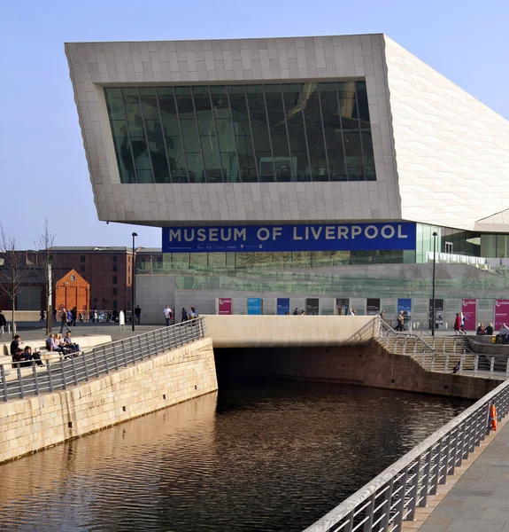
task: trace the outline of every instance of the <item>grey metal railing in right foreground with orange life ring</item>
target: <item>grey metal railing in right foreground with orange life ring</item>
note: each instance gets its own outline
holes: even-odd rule
[[[401,532],[404,520],[414,520],[439,484],[490,434],[490,405],[498,420],[509,410],[509,381],[452,419],[424,442],[390,465],[364,488],[348,497],[305,532]]]

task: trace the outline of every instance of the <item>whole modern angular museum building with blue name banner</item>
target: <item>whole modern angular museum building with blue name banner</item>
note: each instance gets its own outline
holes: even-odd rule
[[[66,55],[99,219],[161,228],[136,266],[146,319],[428,326],[436,258],[439,327],[509,322],[509,122],[386,35]]]

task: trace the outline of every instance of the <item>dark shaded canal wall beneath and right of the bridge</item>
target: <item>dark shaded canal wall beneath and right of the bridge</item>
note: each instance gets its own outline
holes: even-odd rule
[[[393,355],[373,341],[366,347],[225,349],[218,364],[290,379],[338,382],[432,395],[479,399],[500,384],[452,373],[427,372],[410,356]],[[225,359],[225,357],[228,357]]]

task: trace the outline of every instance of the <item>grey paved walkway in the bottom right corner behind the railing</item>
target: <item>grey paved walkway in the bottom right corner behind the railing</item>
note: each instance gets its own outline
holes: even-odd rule
[[[419,532],[509,532],[509,424],[456,469],[448,485],[430,497],[405,530]],[[451,487],[452,486],[452,487]]]

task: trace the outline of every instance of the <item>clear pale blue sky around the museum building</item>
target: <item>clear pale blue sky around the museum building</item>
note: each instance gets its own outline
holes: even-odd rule
[[[506,0],[6,1],[0,14],[0,222],[33,247],[160,246],[99,223],[64,43],[385,33],[509,118]],[[509,149],[509,146],[508,146]],[[501,191],[507,193],[507,191]]]

